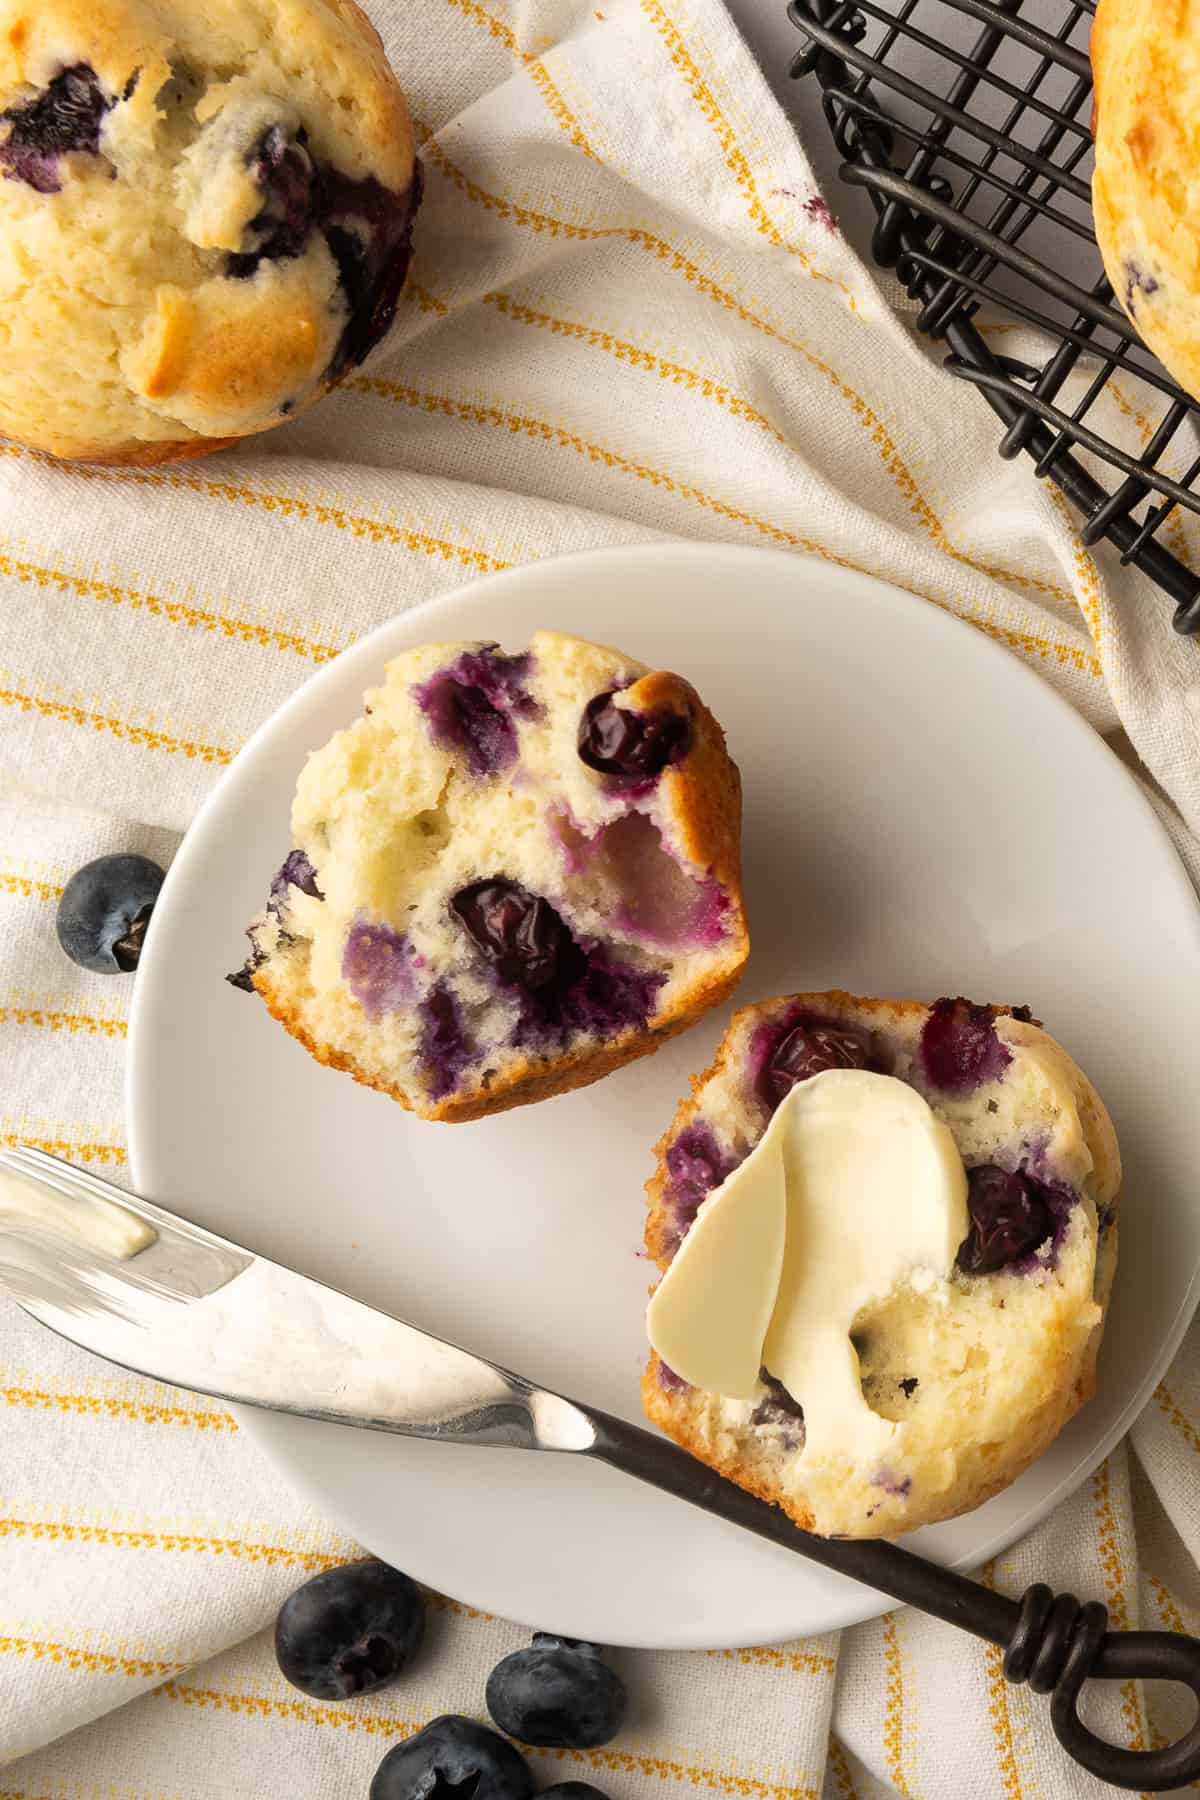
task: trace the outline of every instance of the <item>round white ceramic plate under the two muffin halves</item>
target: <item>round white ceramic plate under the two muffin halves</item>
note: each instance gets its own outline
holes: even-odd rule
[[[1097,1399],[1015,1487],[914,1548],[972,1566],[1128,1429],[1196,1301],[1200,913],[1133,779],[1015,657],[907,594],[766,551],[536,563],[392,621],[313,677],[193,826],[137,983],[139,1188],[540,1382],[639,1418],[642,1183],[727,1010],[583,1093],[430,1125],[311,1062],[221,979],[288,850],[306,751],[399,650],[538,626],[691,677],[745,781],[741,1001],[846,986],[1029,1003],[1126,1159]],[[473,1606],[608,1643],[779,1642],[878,1595],[572,1458],[266,1413],[243,1424],[378,1555]]]

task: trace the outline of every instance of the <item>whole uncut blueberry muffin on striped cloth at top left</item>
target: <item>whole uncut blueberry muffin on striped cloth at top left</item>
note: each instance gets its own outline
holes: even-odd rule
[[[0,434],[203,455],[387,333],[421,178],[353,0],[0,0]]]

